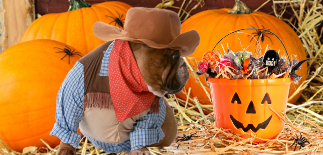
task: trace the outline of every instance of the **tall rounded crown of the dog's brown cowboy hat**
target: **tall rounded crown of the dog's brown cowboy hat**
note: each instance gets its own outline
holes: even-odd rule
[[[180,34],[180,18],[166,9],[134,7],[127,12],[124,28],[125,36],[167,45]]]

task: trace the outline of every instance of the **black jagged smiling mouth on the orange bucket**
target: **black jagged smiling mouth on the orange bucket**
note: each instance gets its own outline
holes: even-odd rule
[[[239,121],[234,119],[232,115],[230,115],[231,121],[237,129],[241,128],[244,132],[252,130],[254,133],[257,132],[259,129],[265,129],[267,127],[267,125],[269,124],[272,117],[273,117],[273,115],[271,115],[266,121],[258,124],[257,127],[255,128],[255,126],[253,126],[253,124],[248,124],[247,127],[243,127],[242,123],[240,123]]]

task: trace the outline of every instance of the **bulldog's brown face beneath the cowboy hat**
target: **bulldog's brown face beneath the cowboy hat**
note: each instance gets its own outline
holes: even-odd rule
[[[189,73],[178,50],[155,49],[133,42],[129,44],[151,92],[163,96],[166,93],[177,94],[183,89]]]

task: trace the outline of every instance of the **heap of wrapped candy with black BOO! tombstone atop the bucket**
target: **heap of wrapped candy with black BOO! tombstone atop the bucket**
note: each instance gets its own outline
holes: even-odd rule
[[[298,83],[302,77],[296,75],[295,71],[300,70],[301,65],[308,61],[308,59],[302,61],[292,60],[293,66],[291,66],[292,63],[287,62],[287,57],[279,56],[275,50],[268,50],[259,58],[254,58],[252,55],[248,51],[239,51],[238,53],[228,51],[220,59],[215,52],[205,52],[203,61],[198,63],[198,72],[196,74],[202,75],[206,73],[208,78],[226,79],[291,77],[294,83]]]

